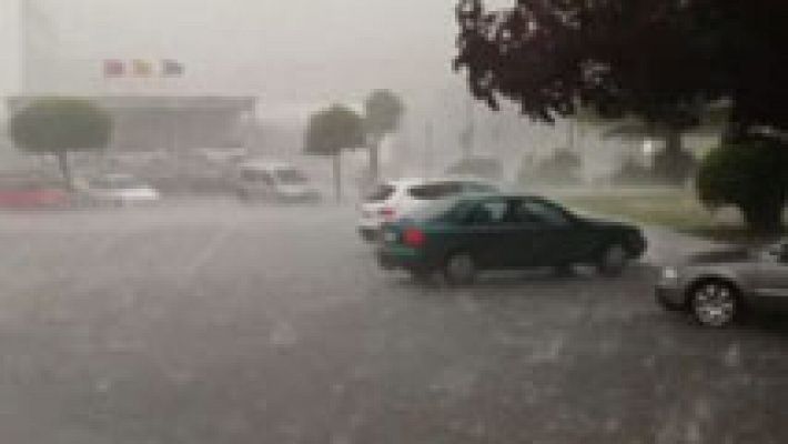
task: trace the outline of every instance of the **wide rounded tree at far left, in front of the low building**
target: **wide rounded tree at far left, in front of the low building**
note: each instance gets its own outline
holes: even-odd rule
[[[69,152],[103,150],[112,135],[111,117],[82,99],[37,100],[11,117],[9,127],[11,139],[20,149],[58,158],[69,188],[72,185]]]

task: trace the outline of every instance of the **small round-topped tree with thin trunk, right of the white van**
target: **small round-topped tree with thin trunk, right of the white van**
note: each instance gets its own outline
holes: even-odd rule
[[[364,135],[363,119],[341,104],[317,111],[310,118],[304,151],[306,154],[330,155],[334,159],[334,190],[337,202],[342,200],[342,150],[363,147]]]

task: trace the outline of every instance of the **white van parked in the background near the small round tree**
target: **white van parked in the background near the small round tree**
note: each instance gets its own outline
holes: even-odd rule
[[[242,163],[238,172],[236,193],[245,201],[319,202],[322,199],[303,171],[284,162]]]

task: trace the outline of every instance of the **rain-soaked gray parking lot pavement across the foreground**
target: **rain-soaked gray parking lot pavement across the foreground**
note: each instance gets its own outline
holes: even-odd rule
[[[648,262],[420,285],[378,270],[354,215],[0,214],[2,441],[788,438],[785,317],[697,327],[654,303]]]

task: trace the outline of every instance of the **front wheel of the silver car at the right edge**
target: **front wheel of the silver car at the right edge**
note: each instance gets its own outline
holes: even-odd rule
[[[738,315],[738,291],[728,282],[704,282],[693,289],[689,297],[693,316],[701,325],[724,327]]]

